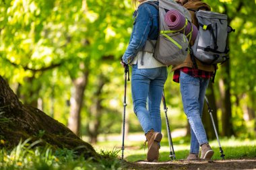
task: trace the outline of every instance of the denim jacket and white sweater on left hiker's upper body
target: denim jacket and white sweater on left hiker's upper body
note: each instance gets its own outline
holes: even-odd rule
[[[137,64],[139,69],[164,66],[152,57],[153,52],[143,51],[147,40],[157,40],[158,38],[158,10],[149,3],[143,2],[133,13],[133,17],[133,32],[129,46],[123,54],[123,61],[131,65]]]

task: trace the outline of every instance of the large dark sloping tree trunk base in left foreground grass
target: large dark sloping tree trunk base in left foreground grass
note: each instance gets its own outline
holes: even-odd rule
[[[98,157],[87,142],[77,137],[69,128],[54,120],[44,112],[23,105],[0,76],[0,139],[5,140],[1,147],[13,148],[20,139],[31,138],[31,142],[41,140],[40,145],[51,144],[54,148],[76,149],[84,157]],[[40,136],[39,132],[43,132]]]

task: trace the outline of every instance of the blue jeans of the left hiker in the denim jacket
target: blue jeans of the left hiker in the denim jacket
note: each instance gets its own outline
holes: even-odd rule
[[[133,65],[131,75],[133,110],[145,134],[151,129],[161,132],[160,103],[166,79],[166,67],[137,69],[137,65]]]

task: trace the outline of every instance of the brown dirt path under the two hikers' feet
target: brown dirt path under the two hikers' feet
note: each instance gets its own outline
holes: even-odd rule
[[[224,161],[167,161],[158,163],[149,163],[146,161],[137,161],[135,163],[125,163],[123,169],[220,169],[220,170],[236,170],[236,169],[256,169],[256,159],[241,160],[224,160]]]

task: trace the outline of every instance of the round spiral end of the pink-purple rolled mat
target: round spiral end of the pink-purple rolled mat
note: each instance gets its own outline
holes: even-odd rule
[[[186,24],[186,18],[175,9],[166,12],[164,21],[170,30],[181,30]]]

